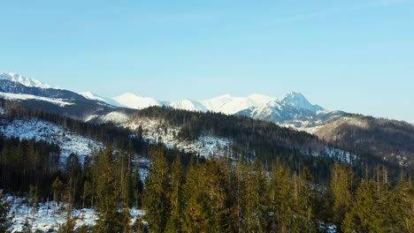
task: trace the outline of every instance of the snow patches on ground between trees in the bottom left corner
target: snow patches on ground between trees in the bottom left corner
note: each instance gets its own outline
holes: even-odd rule
[[[12,203],[11,214],[12,218],[12,232],[21,231],[26,221],[31,225],[31,229],[35,232],[36,229],[42,232],[47,232],[52,229],[57,230],[59,224],[66,222],[67,205],[57,203],[54,201],[47,203],[40,203],[38,208],[28,207],[26,199],[8,196],[7,200]],[[144,211],[136,208],[130,210],[132,217],[131,222],[134,222],[136,217],[142,216]],[[96,214],[95,208],[74,209],[72,217],[76,219],[75,229],[82,225],[94,226],[99,216]]]

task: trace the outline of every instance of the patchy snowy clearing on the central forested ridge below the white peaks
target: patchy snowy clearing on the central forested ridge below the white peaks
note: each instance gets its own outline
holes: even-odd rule
[[[200,136],[196,141],[178,139],[180,127],[167,126],[159,119],[140,118],[130,120],[124,127],[136,131],[142,125],[142,138],[149,142],[162,142],[166,147],[176,147],[189,153],[200,154],[204,157],[226,154],[231,143],[229,139]]]

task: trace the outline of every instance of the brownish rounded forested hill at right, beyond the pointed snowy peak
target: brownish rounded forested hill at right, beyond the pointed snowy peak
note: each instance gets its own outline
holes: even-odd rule
[[[411,124],[352,115],[324,125],[315,134],[355,154],[414,169],[414,126]]]

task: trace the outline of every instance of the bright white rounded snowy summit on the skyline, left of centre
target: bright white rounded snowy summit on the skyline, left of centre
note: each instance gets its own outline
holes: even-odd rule
[[[151,106],[161,106],[162,103],[151,97],[143,97],[132,93],[126,93],[112,98],[120,105],[130,109],[145,109]]]

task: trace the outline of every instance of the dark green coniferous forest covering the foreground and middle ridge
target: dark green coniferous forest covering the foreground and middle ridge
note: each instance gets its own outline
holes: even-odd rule
[[[180,117],[188,113],[175,114],[182,120]],[[200,117],[209,118],[209,114]],[[95,207],[99,213],[96,225],[82,226],[76,232],[414,231],[414,186],[410,173],[387,163],[361,166],[304,155],[299,149],[288,149],[282,144],[272,146],[272,139],[263,140],[263,148],[253,146],[264,139],[261,130],[265,128],[247,118],[242,121],[229,118],[228,124],[219,127],[214,126],[213,120],[210,124],[194,117],[189,120],[180,137],[193,137],[192,133],[208,129],[225,133],[245,127],[235,138],[257,148],[256,157],[234,158],[223,154],[208,159],[161,144],[149,144],[139,134],[130,137],[131,132],[114,124],[86,124],[8,103],[4,120],[21,117],[62,125],[107,145],[85,158],[71,154],[61,163],[58,145],[0,137],[3,191],[28,197],[28,204],[34,207],[51,200],[67,203],[69,210]],[[211,117],[226,120],[222,115],[211,114]],[[242,123],[232,126],[232,122]],[[196,132],[190,131],[193,124],[199,125]],[[278,126],[271,127],[289,134]],[[249,130],[257,141],[243,134]],[[278,137],[276,132],[272,137]],[[289,137],[303,140],[303,145],[307,140],[321,143],[302,132],[297,135]],[[272,152],[265,147],[272,147]],[[149,159],[145,180],[140,176],[142,157]],[[132,207],[145,211],[133,224],[129,214]],[[9,210],[3,199],[0,232],[10,229]],[[58,232],[75,231],[74,221],[68,214],[67,222]]]

